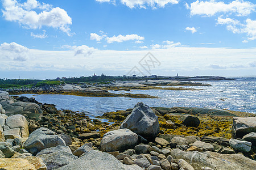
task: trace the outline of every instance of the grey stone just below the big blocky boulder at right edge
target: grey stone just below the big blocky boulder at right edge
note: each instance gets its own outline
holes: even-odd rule
[[[250,152],[251,150],[251,142],[240,141],[237,139],[230,139],[229,145],[240,152]]]

